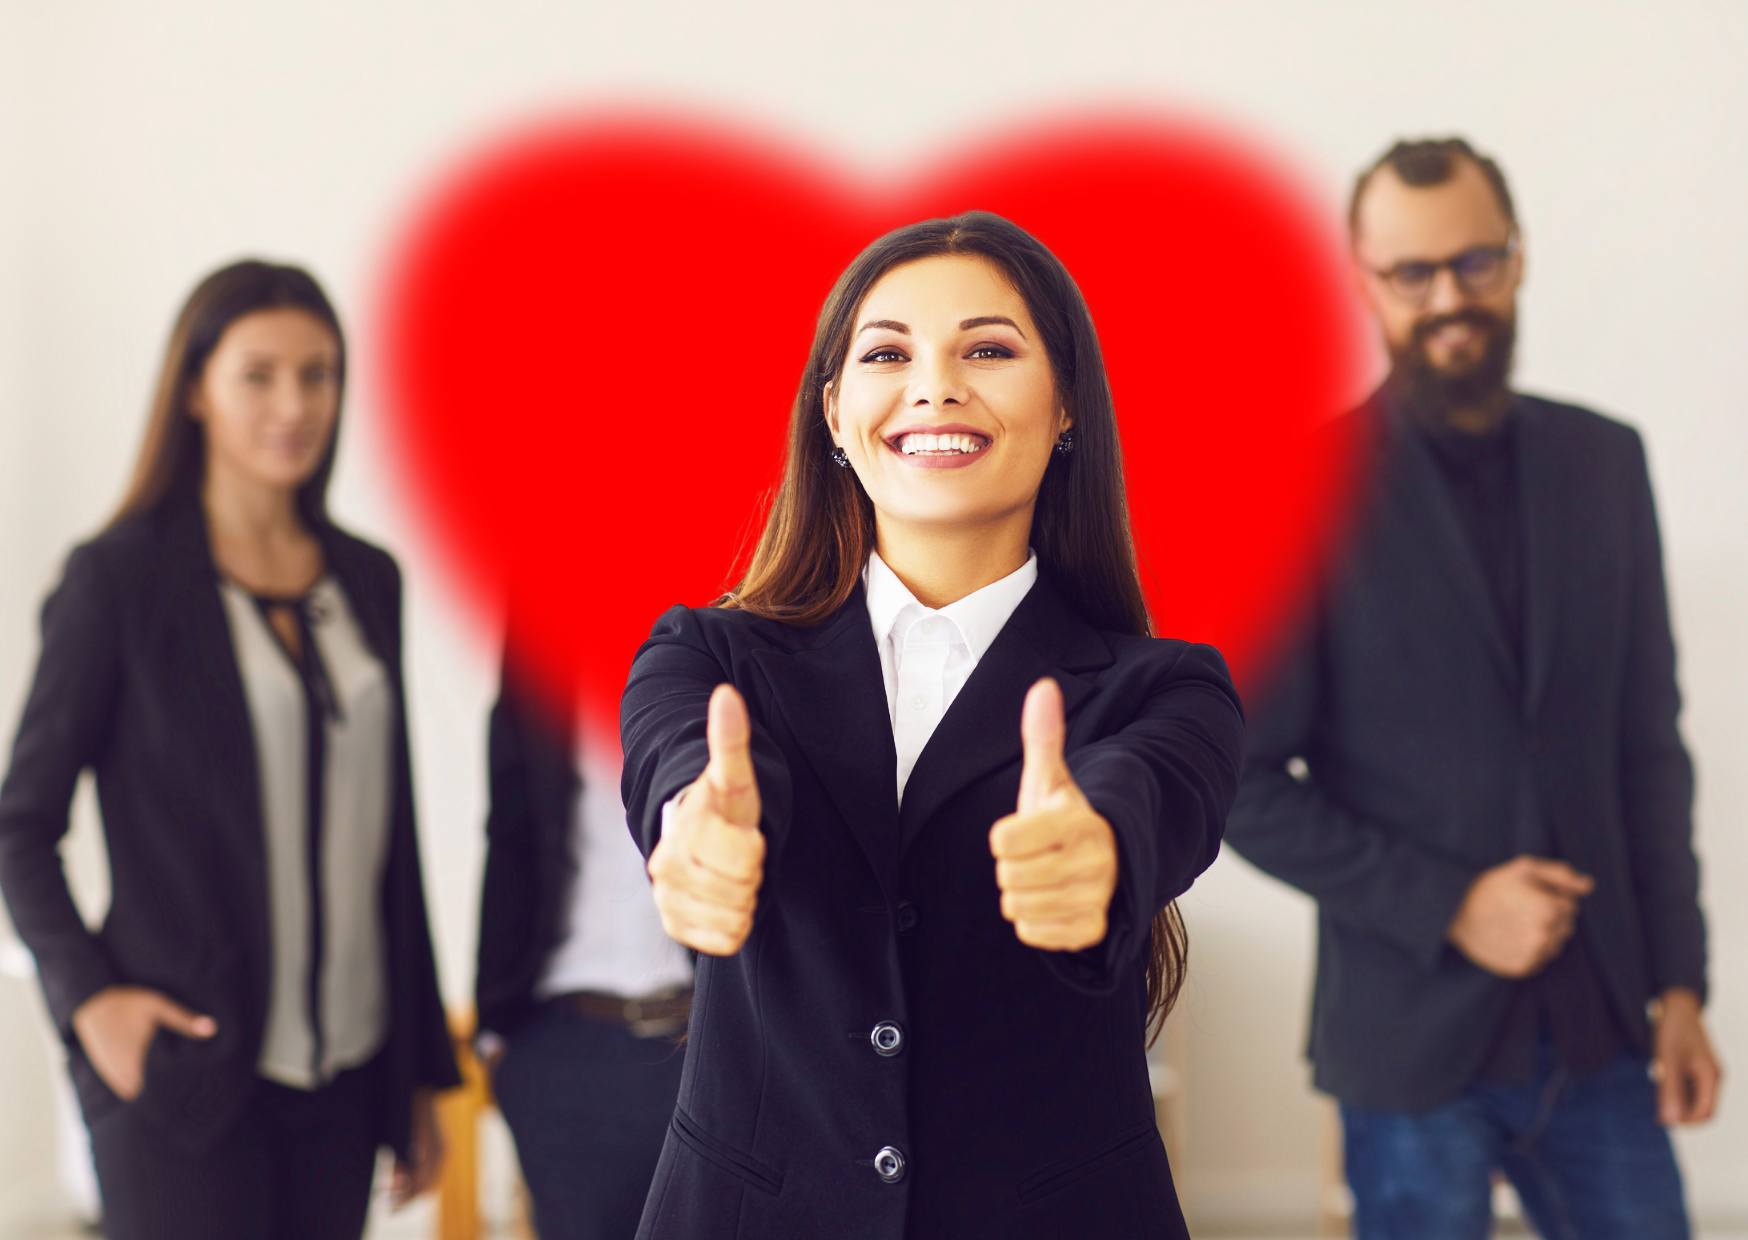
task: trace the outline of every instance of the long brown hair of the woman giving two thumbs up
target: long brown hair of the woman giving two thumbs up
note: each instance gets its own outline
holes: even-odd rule
[[[1148,635],[1129,537],[1122,448],[1092,317],[1056,255],[1024,229],[988,212],[888,233],[839,276],[820,311],[808,369],[795,394],[783,483],[746,575],[718,605],[790,624],[816,624],[855,591],[874,549],[874,505],[855,472],[830,462],[825,385],[836,385],[843,374],[855,315],[869,289],[898,264],[940,254],[979,255],[1007,273],[1044,336],[1056,390],[1073,416],[1075,451],[1051,455],[1031,519],[1038,567],[1094,628]],[[1183,918],[1176,904],[1168,904],[1154,918],[1147,960],[1148,1042],[1176,1002],[1187,958]]]

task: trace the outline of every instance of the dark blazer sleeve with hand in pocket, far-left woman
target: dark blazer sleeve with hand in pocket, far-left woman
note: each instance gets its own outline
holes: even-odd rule
[[[79,773],[101,756],[121,691],[112,595],[98,553],[77,547],[42,607],[42,654],[0,785],[0,894],[66,1041],[79,1006],[122,981],[73,904],[59,850]]]

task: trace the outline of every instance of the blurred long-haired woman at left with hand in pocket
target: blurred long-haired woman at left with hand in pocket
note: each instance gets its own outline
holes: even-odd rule
[[[299,268],[189,296],[133,484],[75,547],[0,787],[105,1235],[348,1237],[379,1146],[440,1161],[456,1083],[420,887],[400,572],[327,512],[344,338]],[[59,841],[96,773],[112,904]]]

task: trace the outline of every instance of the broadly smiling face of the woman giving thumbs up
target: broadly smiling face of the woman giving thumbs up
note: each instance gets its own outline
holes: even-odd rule
[[[869,289],[851,332],[825,416],[879,518],[1030,528],[1070,418],[1007,275],[975,255],[905,262]]]

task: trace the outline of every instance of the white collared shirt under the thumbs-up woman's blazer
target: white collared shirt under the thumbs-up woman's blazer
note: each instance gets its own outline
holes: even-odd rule
[[[877,551],[869,556],[862,582],[886,679],[900,803],[923,745],[1037,579],[1038,556],[1028,549],[1026,563],[1007,577],[935,610],[916,602]]]

